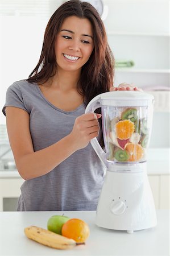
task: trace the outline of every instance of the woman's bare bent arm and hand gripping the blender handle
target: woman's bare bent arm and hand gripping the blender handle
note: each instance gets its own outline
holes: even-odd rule
[[[78,117],[71,134],[51,146],[34,152],[29,129],[29,114],[22,109],[6,107],[6,122],[10,146],[16,168],[23,179],[32,179],[47,174],[75,151],[88,145],[97,137],[98,120],[101,115],[92,113]]]

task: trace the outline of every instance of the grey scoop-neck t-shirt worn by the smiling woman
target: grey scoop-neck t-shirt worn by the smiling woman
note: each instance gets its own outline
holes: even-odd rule
[[[9,86],[3,114],[6,106],[26,110],[30,115],[34,151],[71,133],[75,119],[85,112],[84,104],[73,111],[56,108],[37,84],[25,80]],[[104,172],[103,164],[89,143],[48,174],[24,181],[17,210],[96,210]]]

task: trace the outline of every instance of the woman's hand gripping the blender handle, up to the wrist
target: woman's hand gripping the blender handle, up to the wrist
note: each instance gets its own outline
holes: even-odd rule
[[[101,118],[101,114],[86,113],[76,118],[73,130],[69,134],[76,150],[88,146],[90,140],[98,136],[98,118]]]

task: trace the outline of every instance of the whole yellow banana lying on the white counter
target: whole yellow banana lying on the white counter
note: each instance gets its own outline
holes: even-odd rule
[[[72,249],[74,246],[80,245],[80,243],[76,243],[73,239],[61,236],[47,229],[39,228],[38,226],[28,226],[24,229],[24,233],[28,238],[55,249]]]

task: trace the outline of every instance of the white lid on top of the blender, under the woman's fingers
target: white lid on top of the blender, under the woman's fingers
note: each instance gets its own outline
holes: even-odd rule
[[[148,106],[153,104],[154,96],[145,92],[117,90],[101,94],[105,106]]]

